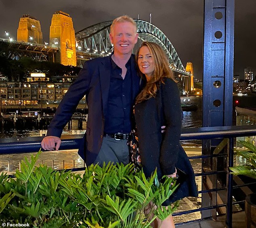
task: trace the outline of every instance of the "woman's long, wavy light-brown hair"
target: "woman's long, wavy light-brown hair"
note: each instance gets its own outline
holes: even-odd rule
[[[143,100],[147,100],[151,97],[155,97],[157,89],[159,88],[160,83],[164,84],[164,78],[168,77],[174,79],[172,70],[169,67],[169,62],[166,58],[166,54],[164,50],[158,45],[153,42],[143,42],[141,47],[147,46],[149,48],[150,54],[153,56],[155,61],[155,70],[153,72],[153,76],[147,82],[145,88],[138,94],[136,97],[136,104],[142,102]],[[140,51],[141,47],[138,49]],[[138,52],[136,55],[136,62],[138,65]],[[145,77],[141,71],[139,71],[141,77]]]

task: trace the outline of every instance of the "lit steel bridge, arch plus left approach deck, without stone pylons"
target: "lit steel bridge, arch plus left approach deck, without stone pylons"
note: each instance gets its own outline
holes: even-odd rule
[[[191,72],[186,71],[174,46],[166,35],[152,23],[143,20],[134,21],[138,27],[138,42],[133,52],[136,52],[143,41],[151,41],[159,44],[166,52],[170,68],[174,72],[175,77],[180,80],[183,89],[186,91],[190,90],[190,82],[193,75],[191,75]],[[83,63],[87,60],[111,54],[113,51],[113,44],[111,44],[109,39],[111,23],[112,21],[101,22],[75,33],[76,65],[78,67],[82,67]],[[56,56],[58,52],[61,52],[57,43],[58,42],[54,42],[53,44],[40,44],[36,42],[11,42],[10,40],[0,40],[0,54],[11,59],[19,59],[23,56],[28,56],[35,61],[56,62],[58,59]]]

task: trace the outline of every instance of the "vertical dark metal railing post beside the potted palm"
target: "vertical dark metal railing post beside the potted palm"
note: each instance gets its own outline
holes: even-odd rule
[[[234,138],[229,138],[229,161],[227,165],[227,205],[226,205],[226,228],[232,228],[232,207],[233,207],[233,175],[229,167],[234,164]]]

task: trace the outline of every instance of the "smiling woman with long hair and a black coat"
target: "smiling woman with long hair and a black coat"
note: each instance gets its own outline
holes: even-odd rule
[[[196,197],[197,186],[191,163],[180,145],[180,91],[162,48],[153,42],[143,42],[137,63],[141,77],[147,81],[134,106],[141,166],[146,176],[157,167],[159,178],[176,177],[176,168],[187,174],[185,182],[172,194],[164,206],[187,196]],[[161,126],[166,126],[161,133]],[[139,160],[139,159],[137,159]],[[174,227],[172,216],[157,220],[157,227]]]

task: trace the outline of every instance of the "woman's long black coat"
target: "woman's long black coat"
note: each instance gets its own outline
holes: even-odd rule
[[[134,114],[145,175],[151,176],[155,167],[159,178],[173,174],[175,167],[188,175],[171,196],[170,202],[173,202],[198,193],[191,163],[179,142],[183,117],[180,91],[172,79],[166,78],[164,83],[159,86],[155,98],[135,105]],[[166,126],[164,134],[161,126]]]

